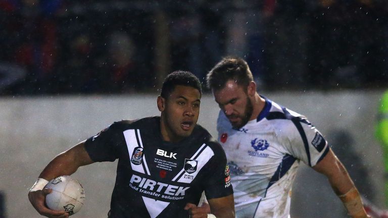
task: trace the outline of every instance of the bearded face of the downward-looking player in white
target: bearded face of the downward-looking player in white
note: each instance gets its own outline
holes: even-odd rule
[[[248,123],[253,113],[253,105],[247,87],[229,80],[224,88],[213,90],[213,95],[234,129],[240,129]]]

